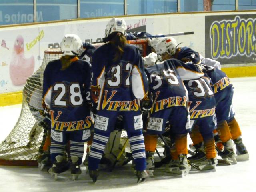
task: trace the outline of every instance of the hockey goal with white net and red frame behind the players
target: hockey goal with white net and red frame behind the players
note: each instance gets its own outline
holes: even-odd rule
[[[128,41],[137,46],[146,56],[148,42],[144,39]],[[94,44],[99,47],[102,44]],[[23,88],[22,109],[16,125],[0,144],[0,165],[37,166],[37,159],[43,152],[44,142],[48,134],[49,124],[42,112],[43,73],[48,62],[59,59],[60,49],[44,51],[44,59],[40,68],[27,80]],[[126,133],[122,133],[126,138]]]

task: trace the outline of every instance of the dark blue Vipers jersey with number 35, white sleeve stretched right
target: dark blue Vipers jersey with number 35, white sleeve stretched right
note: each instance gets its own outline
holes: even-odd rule
[[[188,91],[182,80],[204,75],[194,64],[184,64],[177,59],[150,66],[146,73],[151,82],[150,91],[154,93],[152,113],[173,106],[184,106],[188,110]]]

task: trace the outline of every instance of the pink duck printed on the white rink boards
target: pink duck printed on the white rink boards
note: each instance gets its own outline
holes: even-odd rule
[[[24,56],[24,39],[18,35],[13,48],[12,59],[10,62],[10,78],[12,84],[25,84],[26,79],[34,72],[35,60],[34,56],[26,59]]]

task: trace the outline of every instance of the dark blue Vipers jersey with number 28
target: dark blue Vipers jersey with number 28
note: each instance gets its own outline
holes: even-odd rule
[[[74,60],[61,70],[61,60],[48,63],[44,70],[43,100],[50,109],[51,127],[58,131],[90,128],[90,63]]]

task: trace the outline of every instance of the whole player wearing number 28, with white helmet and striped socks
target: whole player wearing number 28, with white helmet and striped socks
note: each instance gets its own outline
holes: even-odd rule
[[[73,179],[81,174],[80,164],[84,142],[90,139],[93,124],[86,92],[90,87],[90,63],[77,55],[82,41],[67,34],[60,43],[62,57],[48,63],[44,70],[43,107],[51,117],[51,159],[49,173],[57,174],[70,168]],[[90,101],[89,101],[90,102]],[[64,158],[64,148],[70,141],[70,161]]]

